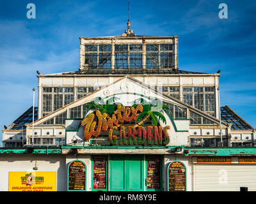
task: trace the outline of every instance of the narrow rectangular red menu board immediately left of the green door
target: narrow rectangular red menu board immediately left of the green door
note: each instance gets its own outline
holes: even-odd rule
[[[106,189],[106,157],[94,157],[93,161],[93,189]]]

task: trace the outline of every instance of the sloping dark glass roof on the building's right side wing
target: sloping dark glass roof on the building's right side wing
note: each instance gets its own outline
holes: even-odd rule
[[[231,129],[253,129],[247,122],[245,122],[237,113],[235,113],[228,106],[221,106],[221,120],[231,123]]]

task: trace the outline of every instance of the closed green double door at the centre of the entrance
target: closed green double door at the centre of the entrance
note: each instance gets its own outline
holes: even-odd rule
[[[143,178],[143,156],[110,156],[109,191],[144,191]]]

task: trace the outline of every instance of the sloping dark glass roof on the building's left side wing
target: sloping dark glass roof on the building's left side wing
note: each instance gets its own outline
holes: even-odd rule
[[[34,120],[37,120],[37,110],[34,109]],[[16,119],[10,129],[26,129],[25,124],[33,122],[33,106],[31,106],[26,112],[24,112],[18,119]]]

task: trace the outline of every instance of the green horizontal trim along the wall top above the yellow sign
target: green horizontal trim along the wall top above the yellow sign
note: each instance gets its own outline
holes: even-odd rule
[[[0,149],[0,154],[61,154],[61,149],[33,149],[33,148],[24,148],[24,149]]]

